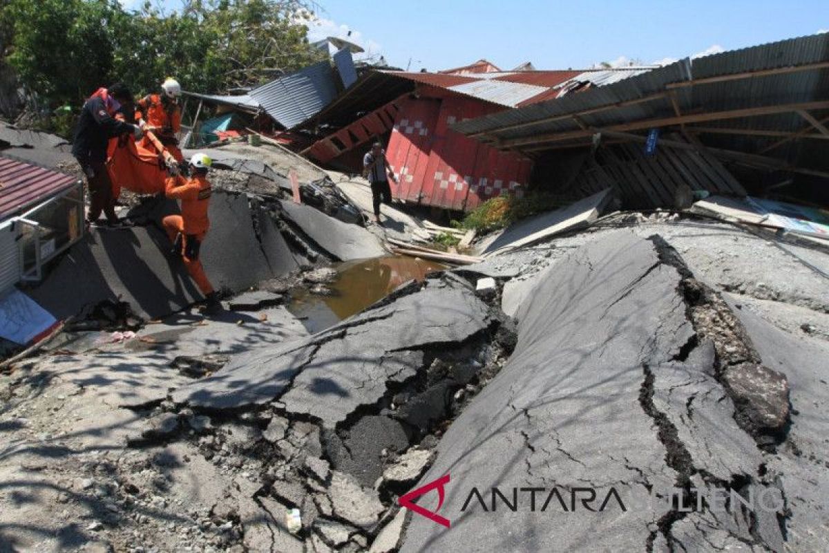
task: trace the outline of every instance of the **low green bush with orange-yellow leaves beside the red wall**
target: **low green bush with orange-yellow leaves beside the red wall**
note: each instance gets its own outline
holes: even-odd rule
[[[498,196],[484,201],[480,206],[470,211],[463,218],[463,221],[453,221],[453,226],[487,232],[502,229],[525,217],[536,215],[536,213],[542,211],[554,210],[568,203],[570,201],[561,196],[540,192],[532,192],[522,198]]]

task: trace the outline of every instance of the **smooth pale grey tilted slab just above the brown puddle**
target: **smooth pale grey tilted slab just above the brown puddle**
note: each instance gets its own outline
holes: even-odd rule
[[[387,253],[381,241],[361,226],[337,221],[322,211],[293,201],[280,201],[280,204],[284,216],[336,260],[361,260]]]

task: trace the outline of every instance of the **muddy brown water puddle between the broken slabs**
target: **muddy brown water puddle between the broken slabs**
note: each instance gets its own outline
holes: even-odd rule
[[[293,289],[288,311],[303,318],[309,332],[332,327],[355,313],[385,298],[407,280],[422,281],[426,274],[445,265],[404,255],[371,260],[348,261],[337,265],[337,279],[327,284],[332,296],[320,296],[308,289]]]

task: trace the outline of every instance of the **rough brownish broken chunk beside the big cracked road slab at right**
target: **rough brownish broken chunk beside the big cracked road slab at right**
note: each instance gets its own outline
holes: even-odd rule
[[[749,434],[774,434],[788,423],[786,376],[763,365],[744,363],[725,371],[723,379],[737,406],[735,418]]]

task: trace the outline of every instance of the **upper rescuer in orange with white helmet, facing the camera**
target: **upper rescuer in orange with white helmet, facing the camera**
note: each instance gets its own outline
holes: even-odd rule
[[[182,85],[172,78],[167,78],[161,85],[162,93],[151,94],[139,99],[135,104],[135,119],[144,132],[151,131],[176,158],[178,163],[184,161],[182,151],[178,149],[177,133],[182,131],[182,110],[178,99],[182,96]],[[143,146],[152,149],[149,138],[144,138]]]

